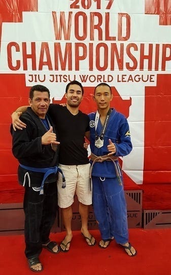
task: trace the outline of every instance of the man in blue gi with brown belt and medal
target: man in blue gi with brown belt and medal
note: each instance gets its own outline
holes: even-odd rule
[[[89,114],[93,209],[101,233],[100,248],[113,238],[129,256],[136,251],[128,242],[126,201],[118,157],[132,150],[127,119],[110,109],[111,87],[98,84],[93,99],[97,112]]]

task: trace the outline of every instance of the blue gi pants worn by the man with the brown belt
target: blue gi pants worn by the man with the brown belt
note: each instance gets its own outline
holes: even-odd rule
[[[116,243],[128,242],[126,201],[117,178],[92,176],[94,215],[102,239],[114,237]]]

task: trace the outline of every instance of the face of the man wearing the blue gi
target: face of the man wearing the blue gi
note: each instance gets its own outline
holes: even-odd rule
[[[100,85],[95,89],[93,99],[97,104],[98,110],[108,110],[112,98],[110,87],[107,85]]]

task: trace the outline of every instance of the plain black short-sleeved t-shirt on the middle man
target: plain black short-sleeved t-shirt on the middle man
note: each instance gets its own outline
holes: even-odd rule
[[[85,132],[89,131],[88,115],[79,111],[71,114],[66,107],[50,104],[49,111],[59,134],[59,163],[77,165],[89,163],[87,150],[84,149]]]

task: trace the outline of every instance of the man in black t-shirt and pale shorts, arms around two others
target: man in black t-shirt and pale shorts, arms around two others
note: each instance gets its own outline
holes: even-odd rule
[[[89,184],[90,163],[87,150],[84,149],[84,137],[89,139],[89,118],[79,110],[83,93],[81,83],[72,81],[67,84],[65,90],[66,107],[54,104],[49,106],[49,114],[59,133],[59,167],[66,180],[65,188],[63,188],[60,175],[57,183],[58,205],[61,208],[66,230],[66,236],[60,244],[63,252],[69,251],[73,237],[71,223],[75,193],[79,200],[81,232],[89,246],[95,245],[95,239],[88,231],[88,214],[89,205],[92,203],[92,194]],[[24,111],[24,109],[18,108],[17,111]],[[17,115],[13,116],[13,125],[20,129],[25,127]]]

